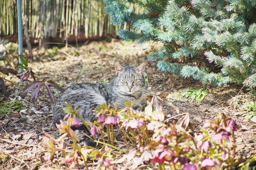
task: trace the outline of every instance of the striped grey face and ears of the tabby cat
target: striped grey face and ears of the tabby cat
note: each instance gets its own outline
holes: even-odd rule
[[[115,64],[115,69],[117,73],[115,86],[119,93],[133,94],[143,90],[145,85],[143,78],[145,63],[142,63],[138,68],[123,68],[119,64]]]

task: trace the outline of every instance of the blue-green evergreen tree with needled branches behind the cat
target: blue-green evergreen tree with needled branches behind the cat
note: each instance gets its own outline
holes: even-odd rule
[[[140,6],[142,14],[132,12],[129,3]],[[160,51],[148,56],[158,61],[160,70],[214,85],[256,87],[256,0],[105,0],[105,4],[114,25],[127,22],[136,30],[119,30],[120,38],[163,43]],[[184,64],[192,58],[214,63],[219,72]]]

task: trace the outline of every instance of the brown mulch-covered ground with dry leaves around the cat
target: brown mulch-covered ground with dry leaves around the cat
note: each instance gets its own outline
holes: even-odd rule
[[[199,132],[206,120],[213,120],[220,114],[229,115],[239,125],[239,129],[235,132],[238,155],[246,159],[253,154],[256,151],[256,123],[244,119],[243,116],[235,116],[235,114],[244,102],[256,101],[255,96],[247,91],[240,91],[240,86],[213,87],[193,79],[184,79],[160,72],[156,67],[156,62],[149,62],[146,57],[147,54],[159,48],[159,44],[139,45],[115,39],[112,39],[110,43],[91,42],[87,45],[80,45],[77,49],[60,48],[53,56],[51,50],[36,51],[34,53],[36,60],[30,64],[30,67],[33,68],[38,80],[53,80],[65,88],[81,82],[111,81],[115,76],[114,63],[116,62],[122,66],[138,66],[145,62],[149,80],[147,94],[169,93],[172,103],[177,106],[180,113],[190,114],[190,121],[194,125],[194,129],[190,130],[192,134]],[[2,66],[14,66],[13,57],[11,55],[8,57],[9,59],[1,63]],[[6,79],[18,82],[18,78],[14,76],[8,76]],[[23,82],[19,85],[24,87],[28,83]],[[52,125],[53,103],[46,94],[41,92],[34,105],[30,99],[31,92],[24,94],[20,88],[10,83],[6,84],[11,95],[6,98],[0,94],[0,101],[18,100],[23,106],[20,112],[13,111],[0,115],[0,169],[37,170],[49,166],[64,168],[63,164],[58,161],[51,164],[44,162],[42,158],[44,149],[41,140],[44,134],[59,135],[56,127]],[[209,95],[202,102],[191,102],[185,97],[177,98],[178,91],[186,88],[205,88]],[[58,98],[58,92],[56,96]],[[236,102],[230,104],[231,101]],[[163,104],[163,106],[166,118],[177,115],[170,105]],[[180,117],[171,119],[171,121],[177,122],[178,119]],[[118,165],[123,169],[129,166],[129,163]]]

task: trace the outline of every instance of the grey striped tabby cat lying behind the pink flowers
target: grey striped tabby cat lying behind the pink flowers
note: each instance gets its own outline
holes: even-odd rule
[[[64,118],[65,102],[78,109],[80,116],[88,121],[96,119],[94,108],[104,102],[111,106],[117,103],[118,108],[121,108],[124,106],[124,101],[132,101],[134,108],[141,108],[140,101],[145,85],[143,79],[145,63],[137,68],[123,68],[116,63],[115,69],[116,77],[108,85],[81,83],[68,87],[54,106],[53,123],[59,123],[59,120]]]

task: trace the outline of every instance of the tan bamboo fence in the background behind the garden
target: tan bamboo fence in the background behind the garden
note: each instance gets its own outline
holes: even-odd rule
[[[129,4],[131,9],[139,9]],[[122,27],[113,26],[105,14],[103,0],[22,0],[22,20],[26,21],[28,34],[33,38],[69,35],[86,38],[116,34]],[[84,32],[83,32],[84,30]],[[0,35],[18,33],[16,0],[0,0]]]

